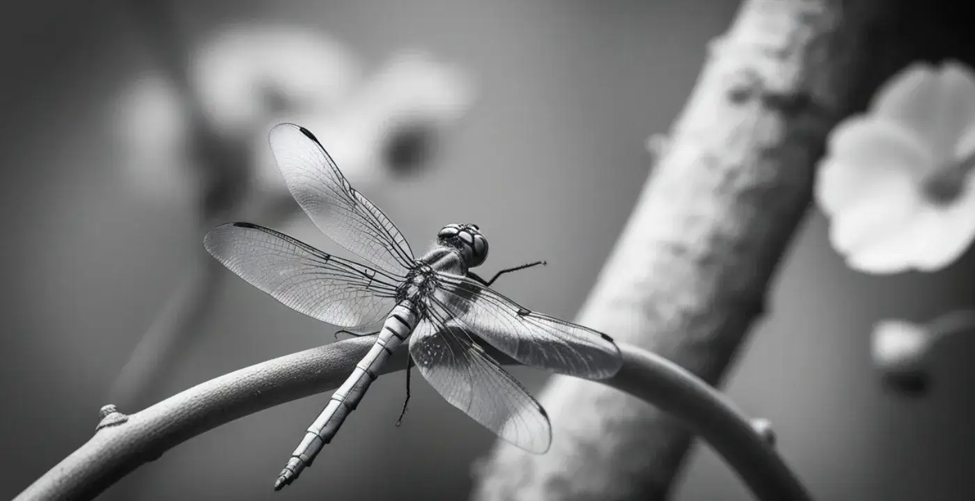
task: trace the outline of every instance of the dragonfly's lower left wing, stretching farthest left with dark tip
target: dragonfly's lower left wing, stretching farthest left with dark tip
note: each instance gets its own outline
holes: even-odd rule
[[[251,223],[216,226],[207,233],[204,247],[257,289],[342,328],[383,320],[396,305],[402,280]]]

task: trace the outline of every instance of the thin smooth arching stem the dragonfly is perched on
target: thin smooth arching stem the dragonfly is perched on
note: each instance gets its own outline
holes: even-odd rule
[[[370,336],[305,350],[222,375],[129,416],[103,416],[90,441],[15,499],[92,499],[179,443],[259,410],[338,387],[372,342]],[[626,344],[620,350],[623,368],[604,384],[673,412],[711,443],[760,499],[809,499],[774,448],[721,394],[656,355]],[[406,350],[397,351],[384,373],[405,369],[407,357]]]

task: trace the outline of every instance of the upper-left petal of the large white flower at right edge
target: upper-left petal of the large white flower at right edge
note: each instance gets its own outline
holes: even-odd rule
[[[830,135],[828,148],[815,195],[830,215],[887,189],[887,177],[910,181],[930,169],[930,154],[917,135],[885,120],[848,119]]]

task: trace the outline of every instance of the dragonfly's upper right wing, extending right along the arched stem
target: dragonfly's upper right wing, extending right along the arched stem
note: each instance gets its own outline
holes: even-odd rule
[[[527,310],[467,277],[438,273],[438,281],[433,302],[526,366],[589,379],[611,377],[623,366],[619,348],[603,332]]]

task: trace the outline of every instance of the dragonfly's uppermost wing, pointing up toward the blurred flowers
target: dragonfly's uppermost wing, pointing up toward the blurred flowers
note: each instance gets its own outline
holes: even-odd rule
[[[409,243],[386,214],[349,184],[314,135],[279,124],[269,141],[294,200],[323,233],[385,272],[406,273],[414,259]]]

